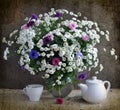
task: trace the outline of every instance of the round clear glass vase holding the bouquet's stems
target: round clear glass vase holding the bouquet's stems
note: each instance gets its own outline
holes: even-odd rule
[[[72,91],[73,85],[67,84],[64,87],[61,88],[60,91],[57,91],[55,89],[49,90],[49,92],[55,97],[55,98],[65,98],[67,97],[70,92]]]

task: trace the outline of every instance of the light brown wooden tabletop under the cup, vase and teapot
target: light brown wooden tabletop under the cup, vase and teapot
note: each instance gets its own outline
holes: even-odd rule
[[[112,89],[101,104],[89,104],[81,99],[80,90],[73,90],[62,105],[44,91],[39,102],[30,102],[22,90],[0,89],[0,110],[120,110],[120,89]]]

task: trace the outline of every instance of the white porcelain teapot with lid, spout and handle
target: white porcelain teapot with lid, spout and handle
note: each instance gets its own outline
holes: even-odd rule
[[[108,84],[107,89],[105,84]],[[86,84],[78,84],[81,88],[82,98],[90,103],[100,103],[106,99],[108,91],[110,89],[109,81],[98,80],[96,76],[92,77],[92,80],[86,80]]]

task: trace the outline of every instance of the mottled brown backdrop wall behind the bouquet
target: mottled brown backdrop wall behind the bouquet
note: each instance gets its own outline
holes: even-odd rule
[[[103,41],[99,47],[100,62],[104,70],[98,75],[102,80],[109,80],[112,87],[120,87],[120,57],[114,58],[103,55],[103,46],[107,49],[114,47],[120,56],[120,1],[119,0],[0,0],[0,88],[23,88],[30,83],[45,82],[40,75],[32,76],[23,71],[16,56],[8,61],[3,60],[5,45],[1,43],[3,37],[8,37],[14,29],[24,24],[24,18],[32,13],[48,12],[50,8],[64,8],[69,11],[82,12],[83,16],[96,21],[103,30],[110,31],[111,42]],[[90,72],[94,74],[94,70]],[[89,76],[90,77],[90,76]]]

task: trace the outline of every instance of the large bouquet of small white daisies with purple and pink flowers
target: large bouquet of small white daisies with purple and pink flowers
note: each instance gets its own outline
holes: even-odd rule
[[[26,20],[27,23],[19,31],[10,34],[11,40],[3,38],[3,42],[8,46],[16,44],[19,65],[33,75],[43,71],[49,88],[60,90],[76,77],[85,79],[87,74],[80,72],[86,69],[90,71],[100,66],[102,71],[96,45],[101,38],[110,39],[109,32],[100,30],[96,22],[82,18],[81,13],[54,8],[39,17],[32,14]],[[8,54],[7,47],[5,60]],[[115,55],[115,49],[111,50],[111,54]]]

